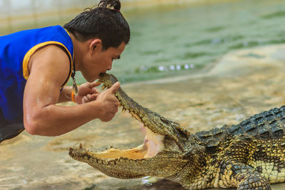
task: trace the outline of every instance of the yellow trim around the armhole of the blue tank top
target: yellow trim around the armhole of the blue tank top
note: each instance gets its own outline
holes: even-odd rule
[[[68,48],[66,48],[66,46],[63,45],[63,43],[60,43],[58,41],[46,41],[46,42],[43,42],[43,43],[38,43],[38,45],[36,46],[33,46],[33,48],[31,48],[27,53],[26,55],[24,56],[24,59],[23,59],[23,76],[26,80],[28,80],[28,76],[30,75],[30,73],[28,72],[28,62],[31,58],[31,56],[33,56],[33,53],[35,53],[39,48],[42,48],[43,46],[48,46],[48,45],[59,45],[59,46],[62,46],[63,48],[66,49],[66,51],[68,52],[68,56],[71,60],[71,71],[73,70],[73,58],[71,57],[71,53],[68,51]],[[71,78],[71,73],[69,73],[69,76],[68,78]],[[68,83],[68,80],[66,80],[66,83]],[[63,84],[66,85],[66,83]]]

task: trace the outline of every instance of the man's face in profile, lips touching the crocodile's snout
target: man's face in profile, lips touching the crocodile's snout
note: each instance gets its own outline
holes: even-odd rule
[[[125,43],[121,43],[118,48],[108,48],[103,51],[102,43],[97,44],[93,51],[88,53],[83,60],[81,73],[88,82],[93,82],[99,78],[100,73],[106,73],[112,68],[113,60],[119,59],[120,54],[125,50]]]

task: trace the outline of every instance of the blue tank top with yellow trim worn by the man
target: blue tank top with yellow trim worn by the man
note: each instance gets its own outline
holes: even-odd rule
[[[71,76],[73,43],[63,27],[50,26],[0,36],[0,113],[9,124],[23,123],[28,61],[38,48],[48,45],[60,46],[70,59],[70,74],[64,86]]]

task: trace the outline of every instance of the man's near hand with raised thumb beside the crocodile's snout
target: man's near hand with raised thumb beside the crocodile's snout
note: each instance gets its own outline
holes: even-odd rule
[[[120,83],[115,83],[111,88],[100,93],[96,98],[96,102],[100,102],[100,117],[103,122],[108,122],[113,119],[115,113],[118,112],[120,102],[115,97],[115,92],[120,88]]]

